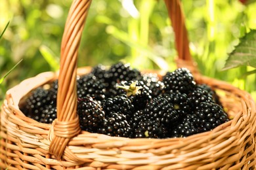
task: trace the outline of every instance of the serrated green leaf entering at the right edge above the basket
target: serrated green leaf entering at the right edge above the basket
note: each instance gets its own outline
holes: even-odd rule
[[[239,44],[228,55],[223,70],[240,67],[242,65],[256,68],[256,30],[245,33]]]

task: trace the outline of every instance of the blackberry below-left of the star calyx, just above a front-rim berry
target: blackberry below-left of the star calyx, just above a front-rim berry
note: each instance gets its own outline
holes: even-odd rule
[[[127,98],[125,94],[117,95],[113,98],[108,98],[102,101],[102,110],[104,110],[106,116],[112,113],[131,114],[134,110],[134,106],[131,100]]]

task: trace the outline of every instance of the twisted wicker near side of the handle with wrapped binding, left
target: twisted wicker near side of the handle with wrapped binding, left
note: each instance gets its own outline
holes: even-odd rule
[[[62,156],[70,139],[81,130],[79,126],[73,126],[74,120],[75,124],[79,125],[76,114],[77,52],[90,5],[91,1],[73,1],[62,38],[57,95],[58,123],[54,124],[54,133],[56,135],[53,137],[53,141],[51,141],[49,146],[50,152],[58,159]],[[63,135],[63,129],[57,127],[60,122],[62,122],[61,124],[65,124],[65,129],[68,129],[68,134]]]

